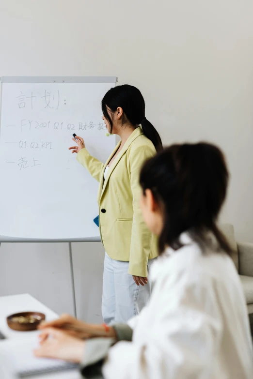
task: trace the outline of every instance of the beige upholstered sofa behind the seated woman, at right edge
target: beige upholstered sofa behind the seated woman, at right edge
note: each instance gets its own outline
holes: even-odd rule
[[[233,225],[223,224],[220,228],[235,250],[232,258],[240,275],[248,313],[253,322],[253,243],[237,243]]]

